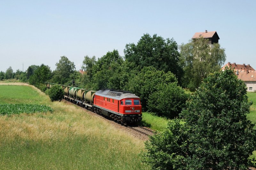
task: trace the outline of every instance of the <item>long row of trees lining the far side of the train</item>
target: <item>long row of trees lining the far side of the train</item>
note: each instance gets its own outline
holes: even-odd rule
[[[83,75],[75,70],[74,62],[62,56],[53,72],[44,64],[32,65],[23,77],[36,87],[45,81],[71,85],[75,80],[76,86],[87,89],[129,90],[141,98],[144,111],[173,117],[188,98],[181,87],[195,90],[226,59],[219,44],[211,48],[204,38],[182,44],[180,52],[178,48],[173,39],[144,34],[137,44],[126,44],[124,57],[117,50],[108,51],[98,60],[85,56]]]

